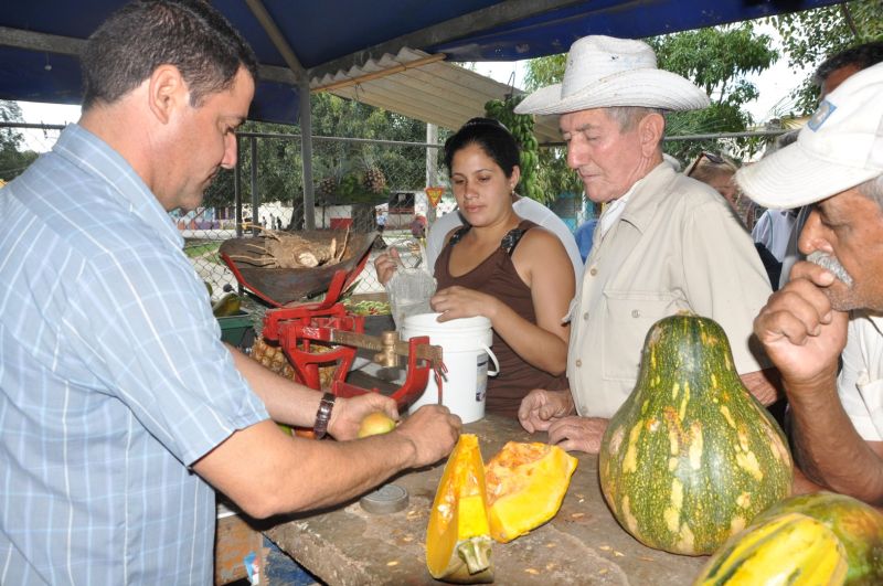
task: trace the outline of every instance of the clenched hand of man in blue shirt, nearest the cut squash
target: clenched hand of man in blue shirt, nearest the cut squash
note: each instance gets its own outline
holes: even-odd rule
[[[424,405],[390,434],[401,434],[414,445],[412,468],[437,462],[454,449],[462,422],[442,405]]]

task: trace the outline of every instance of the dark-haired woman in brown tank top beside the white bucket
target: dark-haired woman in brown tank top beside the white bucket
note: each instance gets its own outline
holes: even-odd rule
[[[486,411],[518,417],[532,388],[567,388],[561,319],[574,296],[573,266],[556,236],[512,210],[521,170],[504,126],[469,120],[445,143],[445,163],[466,226],[436,260],[430,302],[439,321],[491,320],[500,374],[488,380]]]

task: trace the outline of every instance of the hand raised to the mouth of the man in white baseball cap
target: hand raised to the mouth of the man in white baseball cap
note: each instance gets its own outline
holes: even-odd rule
[[[812,384],[837,371],[849,315],[831,307],[825,288],[832,283],[828,270],[797,263],[791,280],[754,320],[754,332],[786,383]]]

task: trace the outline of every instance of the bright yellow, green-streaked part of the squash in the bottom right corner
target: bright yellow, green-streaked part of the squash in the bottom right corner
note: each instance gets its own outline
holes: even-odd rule
[[[825,523],[784,513],[733,535],[694,586],[837,586],[845,584],[847,552]]]

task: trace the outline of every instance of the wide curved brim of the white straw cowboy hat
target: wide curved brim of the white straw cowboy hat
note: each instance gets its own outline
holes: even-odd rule
[[[565,98],[562,84],[538,89],[515,107],[517,114],[566,114],[617,106],[684,111],[708,107],[709,96],[690,81],[656,68],[630,70],[604,77]]]

